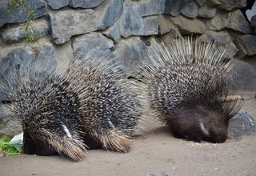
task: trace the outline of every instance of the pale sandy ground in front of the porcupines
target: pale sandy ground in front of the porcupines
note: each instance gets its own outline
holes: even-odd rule
[[[246,94],[250,100],[242,111],[256,117],[254,94]],[[128,154],[89,150],[81,162],[59,156],[0,158],[0,175],[256,175],[256,135],[222,144],[195,143],[174,138],[166,126],[152,126],[133,142]]]

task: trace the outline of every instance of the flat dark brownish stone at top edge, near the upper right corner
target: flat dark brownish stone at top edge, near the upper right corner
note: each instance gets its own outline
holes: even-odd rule
[[[218,8],[222,10],[234,10],[234,9],[241,9],[242,7],[246,6],[247,0],[218,0],[220,5]]]

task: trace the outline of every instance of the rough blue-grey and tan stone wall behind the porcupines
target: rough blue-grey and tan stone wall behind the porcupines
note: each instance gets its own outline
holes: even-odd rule
[[[31,24],[31,35],[38,39],[33,43],[25,42],[24,10],[7,12],[7,1],[0,0],[0,82],[5,82],[5,77],[20,66],[35,61],[46,66],[43,69],[61,71],[78,52],[86,53],[95,47],[113,51],[127,70],[133,70],[153,40],[168,43],[174,37],[191,34],[202,41],[214,40],[226,45],[228,58],[256,58],[256,16],[250,23],[240,10],[246,7],[246,0],[27,0],[26,3],[37,18]],[[241,78],[248,70],[252,78],[256,77],[250,65],[242,62],[239,66],[240,72],[236,73]],[[251,82],[254,88],[256,80]],[[3,100],[0,93],[0,101]],[[0,112],[0,134],[15,134],[20,130],[8,117],[4,110]]]

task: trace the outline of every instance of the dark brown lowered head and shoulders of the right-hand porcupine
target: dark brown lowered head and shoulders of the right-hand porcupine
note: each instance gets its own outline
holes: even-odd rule
[[[178,106],[166,122],[176,138],[216,143],[226,141],[227,118],[198,106]]]

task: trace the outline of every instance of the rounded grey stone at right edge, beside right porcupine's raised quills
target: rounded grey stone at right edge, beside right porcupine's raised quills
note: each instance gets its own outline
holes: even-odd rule
[[[234,68],[230,72],[233,84],[240,91],[255,91],[256,68],[249,63],[239,60],[234,60],[234,63]]]

